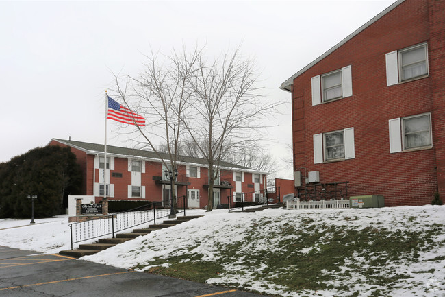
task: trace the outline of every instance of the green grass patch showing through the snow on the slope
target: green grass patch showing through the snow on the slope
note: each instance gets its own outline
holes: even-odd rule
[[[405,222],[413,220],[413,217],[405,217]],[[329,289],[348,296],[359,296],[359,292],[355,292],[348,283],[340,281],[355,278],[353,283],[374,287],[370,296],[388,296],[385,290],[377,288],[394,288],[409,278],[406,273],[392,271],[391,265],[419,261],[420,252],[440,246],[433,238],[444,232],[441,224],[431,224],[424,229],[426,231],[420,231],[390,230],[376,225],[357,230],[348,226],[316,224],[314,219],[307,217],[300,217],[298,222],[282,224],[277,219],[257,219],[246,230],[242,241],[215,243],[218,260],[214,262],[203,261],[201,254],[191,254],[195,247],[190,246],[180,257],[155,259],[144,265],[155,265],[148,270],[151,273],[201,283],[224,273],[233,281],[222,285],[240,287],[237,278],[249,275],[251,281],[264,282],[264,289],[275,284],[284,286],[288,292]],[[274,224],[277,224],[275,228]],[[272,230],[265,233],[264,226]],[[203,239],[197,239],[195,243],[200,240]],[[262,248],[257,248],[258,245]],[[440,256],[429,261],[444,259]],[[159,266],[165,263],[168,263],[168,268]],[[225,270],[225,267],[235,264],[240,269]],[[144,265],[136,268],[143,269]],[[432,269],[418,273],[434,272]],[[244,285],[246,289],[250,287],[249,283]]]

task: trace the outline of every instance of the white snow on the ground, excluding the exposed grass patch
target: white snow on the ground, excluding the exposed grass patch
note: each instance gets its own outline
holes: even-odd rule
[[[243,241],[246,230],[270,220],[278,222],[271,224],[270,230],[262,228],[262,232],[277,232],[279,228],[285,228],[285,224],[292,222],[298,225],[305,219],[305,225],[300,228],[310,228],[311,224],[320,226],[337,226],[338,228],[349,228],[362,230],[368,226],[379,226],[386,230],[401,231],[424,231],[427,232],[432,225],[445,225],[445,206],[401,206],[396,208],[383,209],[342,209],[342,210],[292,210],[268,209],[257,213],[228,213],[227,210],[216,210],[206,213],[202,210],[188,211],[187,215],[205,215],[200,219],[193,219],[189,222],[179,224],[171,228],[164,228],[150,233],[146,236],[138,237],[132,241],[127,241],[113,248],[109,248],[92,256],[81,259],[113,265],[120,268],[142,267],[147,270],[147,264],[153,259],[165,258],[174,255],[182,255],[185,251],[190,254],[203,255],[203,261],[218,261],[218,248],[225,244]],[[309,222],[309,224],[307,224]],[[312,223],[310,223],[312,222]],[[269,226],[269,225],[268,225]],[[16,228],[15,228],[16,227]],[[434,235],[437,243],[445,242],[445,233]],[[296,237],[296,236],[295,236]],[[271,241],[264,236],[263,241],[256,241],[255,246],[249,246],[253,253],[257,250],[274,250],[275,241]],[[68,227],[68,217],[58,216],[49,219],[36,219],[36,224],[29,224],[29,219],[0,219],[0,245],[11,246],[27,250],[37,250],[45,253],[55,253],[59,250],[70,248],[70,235]],[[314,247],[317,248],[317,247]],[[302,250],[307,253],[310,248]],[[390,288],[389,296],[445,296],[445,246],[439,246],[435,250],[420,252],[418,263],[402,262],[388,265],[392,271],[400,271],[409,276],[405,280],[406,285]],[[433,260],[434,259],[434,260]],[[346,263],[355,262],[359,265],[363,259],[351,257]],[[267,283],[268,289],[264,290],[262,281],[253,280],[250,277],[251,270],[237,266],[233,263],[225,270],[245,270],[244,276],[236,276],[236,282],[249,283],[251,289],[258,289],[268,294],[282,294],[283,296],[299,296],[295,293],[285,292],[285,288],[279,285]],[[250,268],[249,268],[250,269]],[[255,268],[259,271],[263,268]],[[348,270],[348,267],[342,270]],[[433,271],[431,273],[424,273]],[[244,272],[244,271],[243,271]],[[329,272],[326,272],[329,274]],[[385,274],[385,271],[380,271]],[[357,275],[357,277],[361,277]],[[207,283],[227,283],[234,281],[231,275],[222,274],[218,278],[211,278]],[[353,279],[337,280],[344,282],[350,288],[354,287]],[[335,283],[335,281],[333,281]],[[366,285],[357,285],[355,290],[361,292],[359,296],[370,296],[369,288]],[[381,288],[385,289],[385,288]],[[386,288],[387,289],[387,288]],[[307,296],[349,296],[339,292],[305,291]]]

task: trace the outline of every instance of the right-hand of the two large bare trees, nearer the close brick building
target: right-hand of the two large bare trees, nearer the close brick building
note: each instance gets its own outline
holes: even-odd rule
[[[239,48],[212,62],[200,56],[198,66],[190,82],[193,99],[182,120],[208,164],[207,211],[212,211],[214,180],[221,161],[236,147],[253,143],[255,132],[275,110],[275,103],[261,101],[255,62],[243,59]]]

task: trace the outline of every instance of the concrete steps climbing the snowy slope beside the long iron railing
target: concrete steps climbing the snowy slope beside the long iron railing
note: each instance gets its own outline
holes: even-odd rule
[[[116,246],[116,244],[135,239],[136,237],[142,235],[147,235],[155,230],[168,228],[177,224],[181,224],[183,222],[190,221],[190,219],[197,219],[199,217],[202,217],[202,215],[187,215],[183,217],[177,217],[177,219],[175,220],[166,220],[162,222],[162,224],[149,225],[148,228],[133,229],[133,232],[131,233],[118,233],[116,234],[116,238],[101,238],[97,243],[81,244],[79,245],[79,248],[77,250],[61,250],[59,254],[75,258],[80,258],[88,254],[96,254],[101,250],[106,250],[107,248]]]

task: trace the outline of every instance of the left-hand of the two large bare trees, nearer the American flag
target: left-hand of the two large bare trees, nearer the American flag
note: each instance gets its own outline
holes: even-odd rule
[[[145,127],[136,126],[144,140],[140,142],[142,148],[149,147],[171,171],[177,169],[177,156],[184,132],[181,117],[190,106],[190,80],[200,55],[201,51],[197,48],[191,54],[186,49],[181,54],[174,51],[160,64],[158,54],[152,51],[151,56],[147,56],[144,71],[138,77],[121,79],[115,76],[116,95],[125,102],[125,106],[131,106],[130,109],[147,120]],[[157,145],[159,139],[164,145]],[[172,189],[174,187],[173,180]]]

